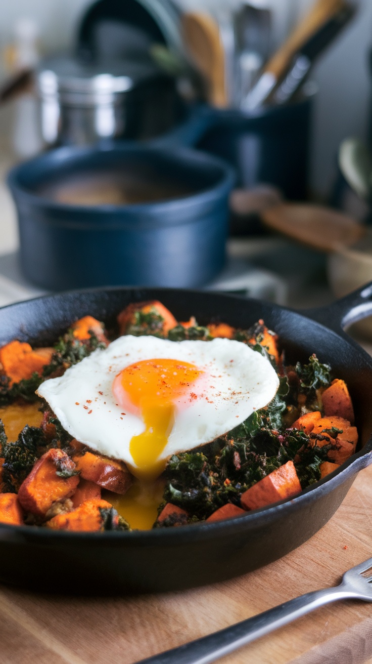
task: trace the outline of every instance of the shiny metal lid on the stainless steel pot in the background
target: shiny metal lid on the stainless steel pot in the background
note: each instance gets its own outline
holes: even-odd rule
[[[117,94],[155,76],[158,76],[158,68],[149,62],[120,60],[84,64],[69,56],[55,56],[42,60],[37,82],[42,96],[63,92]]]

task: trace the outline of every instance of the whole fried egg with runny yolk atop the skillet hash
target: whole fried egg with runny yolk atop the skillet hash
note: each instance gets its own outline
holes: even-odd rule
[[[230,339],[125,335],[38,388],[71,436],[155,479],[172,454],[202,446],[275,396],[269,361]]]

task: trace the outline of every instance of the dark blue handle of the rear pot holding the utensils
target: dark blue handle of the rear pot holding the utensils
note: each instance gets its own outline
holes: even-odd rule
[[[204,133],[216,124],[218,114],[216,109],[206,104],[192,106],[188,118],[168,133],[149,141],[153,147],[194,147]]]

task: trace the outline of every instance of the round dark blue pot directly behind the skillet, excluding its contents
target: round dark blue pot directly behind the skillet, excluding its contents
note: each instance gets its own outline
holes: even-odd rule
[[[141,205],[74,206],[38,189],[66,175],[143,164],[191,192]],[[186,148],[115,143],[62,147],[15,167],[8,184],[19,217],[21,262],[37,286],[201,286],[223,267],[234,173]]]

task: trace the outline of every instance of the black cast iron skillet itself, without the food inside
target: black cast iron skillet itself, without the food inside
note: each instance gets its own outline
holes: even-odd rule
[[[0,581],[38,590],[122,593],[179,590],[263,566],[308,540],[332,517],[357,472],[372,462],[372,359],[341,327],[372,313],[372,284],[306,315],[257,300],[198,291],[76,291],[0,309],[0,345],[48,344],[91,314],[113,323],[131,301],[160,299],[178,320],[221,319],[249,327],[264,318],[282,339],[288,362],[316,353],[344,378],[355,406],[360,449],[301,495],[219,523],[132,533],[67,533],[0,525]]]

